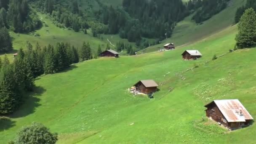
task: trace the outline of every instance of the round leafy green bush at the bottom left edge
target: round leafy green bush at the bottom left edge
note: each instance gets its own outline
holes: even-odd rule
[[[51,133],[40,123],[32,123],[17,133],[15,144],[55,144],[57,133]]]

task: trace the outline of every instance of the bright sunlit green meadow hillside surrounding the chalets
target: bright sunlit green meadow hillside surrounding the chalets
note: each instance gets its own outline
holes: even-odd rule
[[[205,117],[213,99],[240,99],[256,115],[256,49],[228,53],[236,26],[174,51],[119,59],[100,58],[73,65],[66,72],[39,77],[11,120],[0,125],[0,143],[33,121],[59,133],[59,144],[85,143],[255,143],[256,126],[228,132]],[[203,58],[183,61],[197,48]],[[213,55],[225,56],[210,61]],[[198,65],[196,69],[184,72]],[[182,80],[179,75],[185,80]],[[127,89],[138,80],[160,84],[155,99],[133,97]],[[170,88],[174,88],[169,92]],[[244,139],[246,136],[246,139]]]

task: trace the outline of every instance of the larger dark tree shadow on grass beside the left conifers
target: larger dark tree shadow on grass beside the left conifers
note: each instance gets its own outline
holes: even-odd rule
[[[41,96],[45,91],[46,90],[42,87],[35,87],[33,92],[27,93],[27,95],[24,96],[23,104],[21,104],[21,106],[11,115],[8,115],[8,117],[19,118],[34,113],[35,108],[40,106],[38,103],[40,99],[38,97]]]

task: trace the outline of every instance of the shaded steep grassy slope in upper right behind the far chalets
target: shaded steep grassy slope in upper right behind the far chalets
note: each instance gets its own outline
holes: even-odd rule
[[[228,7],[203,24],[196,24],[191,20],[192,15],[177,23],[171,38],[163,40],[161,44],[151,46],[141,53],[157,51],[163,48],[165,43],[175,43],[176,46],[187,45],[201,40],[209,35],[219,32],[234,24],[237,8],[244,5],[246,0],[231,0]]]

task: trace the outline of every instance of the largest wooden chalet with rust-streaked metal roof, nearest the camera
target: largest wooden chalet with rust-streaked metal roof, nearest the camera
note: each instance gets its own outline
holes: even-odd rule
[[[230,130],[248,126],[253,121],[253,117],[238,99],[215,100],[205,107],[207,117]]]

